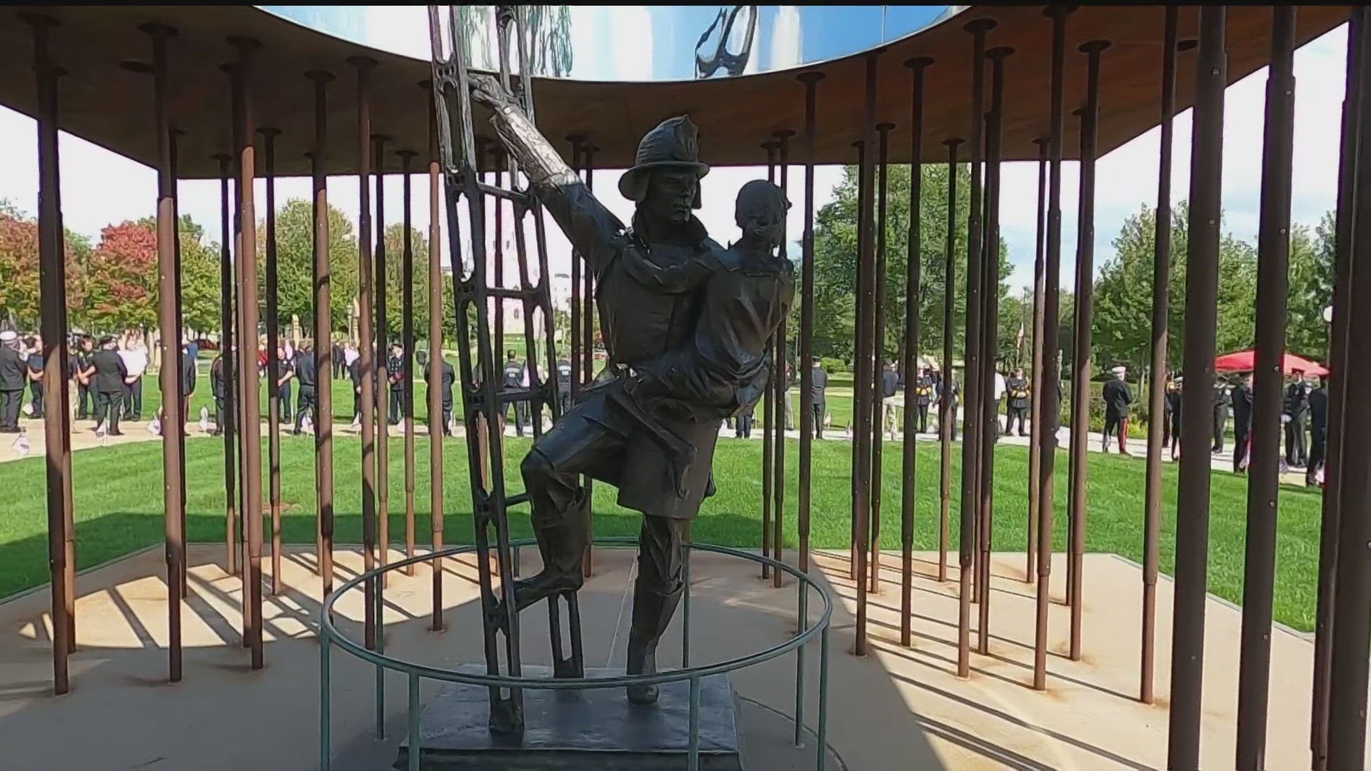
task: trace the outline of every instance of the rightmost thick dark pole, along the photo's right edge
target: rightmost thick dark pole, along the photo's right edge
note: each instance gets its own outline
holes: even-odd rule
[[[1364,130],[1371,123],[1367,115],[1371,110],[1371,73],[1367,71],[1366,51],[1368,49],[1368,33],[1364,23],[1359,25],[1361,56],[1359,62],[1359,96],[1357,111],[1360,128]],[[1356,187],[1353,188],[1355,202],[1349,206],[1356,218],[1350,224],[1355,237],[1348,244],[1349,263],[1345,299],[1346,305],[1338,306],[1334,299],[1333,320],[1345,320],[1346,359],[1335,362],[1344,365],[1345,383],[1363,383],[1368,377],[1367,369],[1371,366],[1371,316],[1359,310],[1366,309],[1371,302],[1371,281],[1367,280],[1371,272],[1371,240],[1364,236],[1371,229],[1371,195],[1366,195],[1367,185],[1371,185],[1371,141],[1359,140]],[[1339,244],[1341,246],[1341,244]],[[1361,306],[1359,309],[1357,306]],[[1346,398],[1342,405],[1339,476],[1345,469],[1366,469],[1371,462],[1371,436],[1366,431],[1349,431],[1350,427],[1364,427],[1371,421],[1371,412],[1366,399]],[[1338,517],[1337,541],[1337,568],[1333,597],[1333,654],[1331,671],[1337,672],[1328,693],[1328,768],[1359,768],[1366,763],[1366,724],[1367,724],[1367,661],[1366,656],[1357,660],[1357,645],[1363,653],[1371,643],[1371,628],[1367,624],[1367,608],[1371,605],[1371,564],[1367,562],[1367,543],[1371,542],[1371,523],[1360,514],[1367,510],[1371,498],[1371,488],[1364,473],[1349,473],[1338,483],[1338,512],[1349,516]],[[1357,689],[1361,693],[1357,693]]]

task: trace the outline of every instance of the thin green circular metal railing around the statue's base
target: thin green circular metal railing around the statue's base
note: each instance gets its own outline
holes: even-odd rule
[[[533,539],[521,539],[510,543],[513,550],[514,564],[518,564],[518,551],[524,546],[533,546],[536,542]],[[610,547],[629,547],[636,546],[636,538],[602,538],[596,539],[595,546],[610,546]],[[699,694],[701,694],[701,680],[714,675],[723,675],[728,672],[735,672],[739,669],[746,669],[749,667],[761,664],[764,661],[771,661],[784,656],[786,653],[795,652],[795,746],[803,746],[802,733],[805,724],[805,645],[813,641],[816,637],[820,638],[820,654],[818,654],[818,716],[817,726],[814,730],[816,744],[817,744],[817,766],[818,771],[824,771],[824,764],[827,760],[827,738],[828,738],[828,631],[832,621],[834,601],[828,594],[828,590],[821,584],[816,583],[808,573],[787,565],[779,560],[762,554],[754,554],[750,551],[742,551],[738,549],[729,549],[727,546],[714,546],[710,543],[683,543],[686,550],[686,562],[683,568],[684,578],[684,591],[681,597],[681,667],[677,669],[668,669],[662,672],[654,672],[651,675],[622,675],[613,678],[532,678],[532,676],[511,676],[499,674],[480,674],[480,672],[461,672],[457,669],[446,669],[441,667],[433,667],[428,664],[418,664],[414,661],[406,661],[395,656],[388,656],[385,653],[384,638],[381,634],[384,624],[381,623],[381,613],[384,609],[383,598],[383,582],[381,576],[387,572],[409,568],[418,562],[440,562],[448,557],[458,557],[462,554],[476,553],[476,546],[455,546],[451,549],[444,549],[441,551],[430,554],[420,554],[399,560],[396,562],[388,562],[378,568],[363,572],[362,575],[344,582],[336,591],[329,594],[324,601],[324,608],[319,617],[319,768],[321,771],[329,770],[329,763],[332,759],[332,707],[330,707],[330,654],[335,646],[350,653],[351,656],[367,661],[376,665],[376,731],[377,738],[384,738],[385,734],[385,671],[393,671],[407,675],[409,689],[407,689],[407,728],[409,728],[409,768],[417,771],[420,768],[421,757],[421,737],[420,737],[420,685],[422,680],[439,680],[451,683],[465,683],[473,686],[484,687],[502,687],[502,689],[522,689],[522,690],[595,690],[595,689],[617,689],[627,686],[646,686],[646,685],[661,685],[670,682],[690,682],[690,733],[688,733],[688,746],[687,746],[687,768],[690,771],[696,771],[699,768]],[[714,554],[723,554],[725,557],[735,557],[739,560],[747,560],[757,562],[764,567],[769,567],[773,571],[788,573],[797,579],[795,589],[798,594],[798,620],[797,631],[792,637],[757,653],[750,653],[747,656],[739,656],[736,659],[729,659],[727,661],[720,661],[716,664],[706,665],[690,665],[690,630],[691,630],[691,608],[690,608],[690,554],[694,551],[709,551]],[[517,569],[517,568],[515,568]],[[373,589],[373,602],[376,606],[377,619],[377,635],[376,635],[376,650],[367,649],[363,643],[348,638],[343,634],[333,623],[333,605],[340,597],[351,590],[372,584]],[[809,595],[810,593],[817,593],[823,610],[810,623],[809,615]]]

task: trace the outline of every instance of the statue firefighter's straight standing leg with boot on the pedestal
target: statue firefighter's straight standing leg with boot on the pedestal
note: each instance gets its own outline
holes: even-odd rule
[[[690,520],[644,516],[638,536],[638,580],[633,584],[633,621],[628,632],[628,674],[657,671],[657,643],[676,615],[684,583],[681,542]],[[633,704],[657,702],[657,686],[631,686]]]

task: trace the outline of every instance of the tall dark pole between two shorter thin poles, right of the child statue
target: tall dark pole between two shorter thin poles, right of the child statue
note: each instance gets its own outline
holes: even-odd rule
[[[923,243],[920,241],[920,228],[923,220],[920,207],[924,199],[923,187],[923,159],[924,159],[924,70],[934,60],[928,56],[916,56],[905,62],[913,74],[912,91],[909,96],[909,232],[905,247],[905,435],[903,435],[903,466],[901,479],[905,480],[899,490],[899,645],[909,646],[912,639],[912,613],[914,589],[914,460],[917,457],[919,424],[913,409],[919,396],[919,311],[923,307],[923,283],[920,263],[923,262]],[[956,169],[953,169],[956,171]],[[949,210],[950,213],[950,210]],[[949,220],[954,217],[949,214]]]

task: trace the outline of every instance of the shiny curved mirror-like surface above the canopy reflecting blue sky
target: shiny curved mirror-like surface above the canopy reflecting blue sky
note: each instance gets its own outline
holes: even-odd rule
[[[259,5],[344,40],[428,59],[424,5]],[[967,5],[529,5],[535,75],[725,78],[814,64],[898,40]],[[465,5],[473,64],[495,69],[495,5]]]

